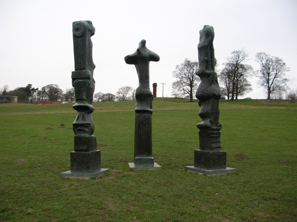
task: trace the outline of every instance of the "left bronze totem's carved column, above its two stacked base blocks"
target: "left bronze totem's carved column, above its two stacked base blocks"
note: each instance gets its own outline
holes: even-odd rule
[[[91,113],[95,81],[93,72],[95,64],[92,58],[91,36],[95,34],[95,28],[91,21],[78,21],[73,23],[73,48],[75,71],[72,72],[72,86],[74,87],[76,104],[73,109],[78,111],[73,122],[75,135],[92,135],[94,122]]]

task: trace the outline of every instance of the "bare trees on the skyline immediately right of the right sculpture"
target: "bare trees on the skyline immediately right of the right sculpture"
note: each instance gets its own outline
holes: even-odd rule
[[[248,60],[248,54],[241,50],[235,50],[232,56],[227,58],[218,78],[220,80],[221,90],[228,99],[238,99],[238,96],[244,95],[252,90],[252,85],[247,80],[251,76],[253,68],[244,64]]]

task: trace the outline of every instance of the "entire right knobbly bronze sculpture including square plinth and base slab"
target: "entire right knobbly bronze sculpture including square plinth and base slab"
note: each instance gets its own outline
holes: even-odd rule
[[[200,106],[198,123],[199,150],[194,150],[194,166],[185,166],[185,170],[206,175],[235,173],[236,169],[226,167],[226,152],[221,151],[221,128],[219,122],[219,99],[221,91],[215,72],[214,28],[204,26],[200,30],[198,44],[199,70],[196,72],[201,83],[196,91]]]

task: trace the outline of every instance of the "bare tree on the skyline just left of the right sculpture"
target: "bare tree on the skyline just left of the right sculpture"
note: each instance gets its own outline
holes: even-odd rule
[[[177,80],[171,85],[171,94],[175,97],[190,98],[190,102],[193,102],[193,92],[200,82],[200,78],[196,75],[197,71],[198,61],[191,61],[186,58],[183,63],[176,65],[172,76]]]

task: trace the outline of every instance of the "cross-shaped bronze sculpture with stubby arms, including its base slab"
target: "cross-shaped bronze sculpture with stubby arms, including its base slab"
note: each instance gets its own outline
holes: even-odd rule
[[[149,62],[159,60],[156,53],[146,48],[146,40],[139,42],[135,53],[125,56],[127,64],[135,65],[139,80],[135,91],[134,163],[129,163],[130,169],[161,169],[152,157],[153,95],[149,89]]]

